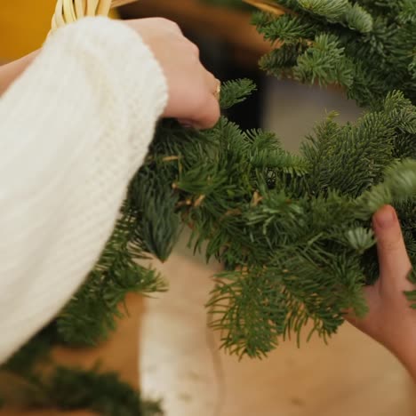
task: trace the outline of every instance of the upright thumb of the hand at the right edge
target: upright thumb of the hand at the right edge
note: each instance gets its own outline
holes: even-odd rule
[[[406,252],[396,211],[392,206],[386,205],[374,215],[372,223],[377,237],[380,275],[391,276],[393,279],[406,277],[412,265]]]

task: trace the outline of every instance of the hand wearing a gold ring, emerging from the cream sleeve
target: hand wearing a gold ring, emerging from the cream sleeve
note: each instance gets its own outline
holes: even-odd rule
[[[197,128],[216,124],[219,81],[201,64],[198,48],[182,35],[179,26],[159,18],[128,20],[126,24],[139,33],[164,69],[169,88],[164,117]]]

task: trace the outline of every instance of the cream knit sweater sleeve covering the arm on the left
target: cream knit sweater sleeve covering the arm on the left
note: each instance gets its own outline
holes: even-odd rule
[[[83,283],[167,100],[122,23],[60,29],[0,99],[0,362]]]

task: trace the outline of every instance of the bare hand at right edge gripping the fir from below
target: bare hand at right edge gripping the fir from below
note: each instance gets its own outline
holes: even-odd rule
[[[385,206],[374,215],[380,279],[365,288],[370,312],[364,319],[349,316],[358,329],[379,341],[399,358],[416,380],[416,310],[404,292],[414,291],[408,280],[412,265],[395,210]]]

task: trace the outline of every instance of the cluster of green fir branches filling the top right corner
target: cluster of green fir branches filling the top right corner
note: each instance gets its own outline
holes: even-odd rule
[[[254,22],[272,44],[281,39],[310,51],[297,53],[286,47],[263,58],[261,68],[279,77],[295,73],[295,79],[304,83],[340,84],[364,107],[393,90],[416,102],[414,0],[287,3],[296,14],[280,18],[257,14]]]

